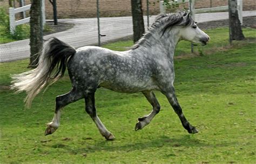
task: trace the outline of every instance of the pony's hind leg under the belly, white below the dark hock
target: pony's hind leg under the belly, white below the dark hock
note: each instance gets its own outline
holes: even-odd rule
[[[107,140],[113,140],[114,136],[110,133],[104,124],[100,121],[99,117],[97,116],[96,108],[95,108],[95,95],[87,94],[85,96],[85,111],[90,115],[93,122],[95,122],[96,126],[99,129],[100,134],[105,137]]]

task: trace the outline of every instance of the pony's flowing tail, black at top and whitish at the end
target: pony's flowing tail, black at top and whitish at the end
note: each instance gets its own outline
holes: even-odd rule
[[[43,46],[37,68],[12,76],[11,89],[25,91],[25,106],[30,108],[33,98],[44,87],[64,76],[67,63],[75,53],[75,48],[57,38],[50,38]]]

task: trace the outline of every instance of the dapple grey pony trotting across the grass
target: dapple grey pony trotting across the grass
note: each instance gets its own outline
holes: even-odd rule
[[[45,135],[55,132],[60,125],[60,110],[64,106],[85,99],[85,110],[107,140],[113,134],[100,121],[95,108],[95,92],[104,87],[117,92],[142,92],[152,105],[152,112],[138,119],[135,130],[148,125],[160,111],[153,90],[163,93],[179,116],[188,133],[197,129],[185,118],[175,95],[173,54],[180,40],[206,45],[209,41],[190,17],[190,13],[164,14],[156,18],[149,31],[129,51],[85,46],[78,49],[58,40],[49,39],[43,47],[36,69],[13,77],[12,89],[26,91],[26,105],[30,106],[40,90],[64,75],[66,67],[72,83],[70,92],[56,97],[56,110]]]

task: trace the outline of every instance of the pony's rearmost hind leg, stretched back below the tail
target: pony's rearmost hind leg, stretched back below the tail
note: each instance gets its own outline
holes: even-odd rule
[[[78,92],[76,89],[72,89],[67,94],[56,97],[56,108],[55,108],[54,117],[52,119],[52,122],[47,124],[47,128],[44,132],[45,136],[54,133],[58,129],[60,125],[61,109],[64,108],[64,106],[70,103],[76,102],[81,98],[83,98],[82,94]]]

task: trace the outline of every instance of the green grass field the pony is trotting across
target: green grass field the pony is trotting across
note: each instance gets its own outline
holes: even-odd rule
[[[68,76],[39,94],[31,109],[24,109],[25,94],[0,90],[0,161],[10,163],[254,163],[255,162],[255,40],[227,46],[225,28],[209,30],[207,47],[199,55],[175,60],[176,92],[183,111],[198,134],[188,134],[167,99],[156,92],[161,111],[151,124],[134,131],[137,118],[151,111],[145,97],[100,88],[98,115],[116,140],[105,141],[84,110],[84,101],[66,106],[59,129],[44,136],[55,97],[71,88]],[[219,34],[219,37],[215,34]],[[255,31],[244,29],[246,37]],[[221,37],[220,37],[221,36]],[[109,45],[116,50],[131,41]],[[219,45],[218,45],[219,44]],[[185,47],[185,45],[188,45]],[[181,42],[177,54],[189,52]],[[10,74],[27,70],[28,61],[1,63],[0,84]],[[19,66],[19,67],[17,67]],[[9,68],[9,69],[7,69]]]

